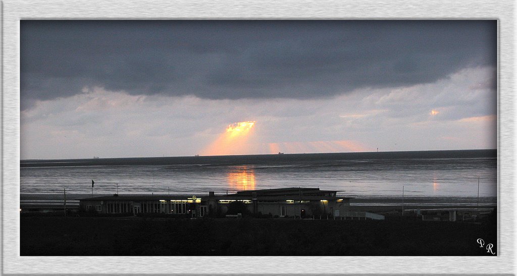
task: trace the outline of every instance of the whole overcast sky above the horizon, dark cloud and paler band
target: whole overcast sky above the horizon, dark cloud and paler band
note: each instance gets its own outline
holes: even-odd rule
[[[21,21],[20,40],[22,159],[497,146],[496,21]]]

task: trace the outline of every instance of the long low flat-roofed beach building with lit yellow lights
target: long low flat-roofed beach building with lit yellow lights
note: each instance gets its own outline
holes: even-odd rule
[[[235,210],[273,217],[341,217],[349,211],[352,197],[319,188],[280,188],[238,191],[216,195],[117,195],[80,199],[82,210],[99,213],[164,213],[204,217],[223,216]],[[236,214],[229,214],[230,216]]]

